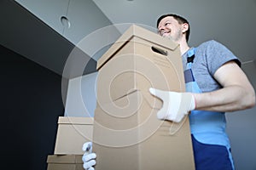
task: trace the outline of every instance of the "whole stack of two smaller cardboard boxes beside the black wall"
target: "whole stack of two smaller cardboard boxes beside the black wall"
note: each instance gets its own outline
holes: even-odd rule
[[[60,116],[54,155],[47,158],[48,170],[82,170],[84,142],[92,140],[93,117]]]

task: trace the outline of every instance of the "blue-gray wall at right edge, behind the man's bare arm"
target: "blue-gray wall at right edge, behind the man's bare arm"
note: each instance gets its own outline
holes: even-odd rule
[[[248,79],[256,87],[256,66],[253,62],[242,65]],[[236,75],[235,75],[236,76]],[[256,169],[256,107],[246,111],[226,113],[227,133],[236,170]]]

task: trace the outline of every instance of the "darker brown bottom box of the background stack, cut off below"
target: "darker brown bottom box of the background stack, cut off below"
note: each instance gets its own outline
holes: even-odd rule
[[[82,155],[48,156],[47,170],[84,170]]]

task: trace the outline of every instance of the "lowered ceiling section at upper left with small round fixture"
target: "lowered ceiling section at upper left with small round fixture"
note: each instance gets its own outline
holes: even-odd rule
[[[61,25],[67,7],[73,24],[68,29]],[[95,29],[112,24],[91,0],[1,0],[0,15],[0,45],[66,78],[96,71],[93,55],[74,44]],[[96,22],[91,21],[91,15]]]

